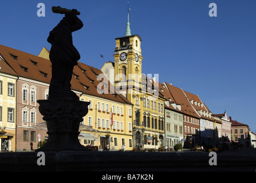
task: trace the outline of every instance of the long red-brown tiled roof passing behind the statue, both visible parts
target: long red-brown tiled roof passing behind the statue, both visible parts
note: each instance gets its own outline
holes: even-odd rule
[[[47,53],[47,51],[45,53]],[[2,59],[0,60],[0,71],[5,71],[6,73],[14,75],[16,74],[18,77],[50,83],[50,79],[52,78],[52,63],[49,59],[3,45],[0,45],[0,54],[7,62],[1,62]],[[101,80],[104,81],[105,84],[108,84],[106,85],[108,92],[105,94],[97,92],[97,86],[101,83],[101,81],[97,81],[98,75],[100,75],[101,78],[104,77],[104,79]],[[78,62],[78,65],[74,66],[70,84],[72,85],[71,89],[76,90],[77,92],[133,105],[122,94],[115,92],[113,85],[111,85],[101,70],[85,65],[84,63]],[[113,94],[109,92],[110,89],[113,89]]]

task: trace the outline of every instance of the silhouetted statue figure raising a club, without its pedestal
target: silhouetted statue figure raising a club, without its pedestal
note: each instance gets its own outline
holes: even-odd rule
[[[49,55],[52,62],[49,99],[63,97],[78,99],[70,89],[73,67],[80,59],[80,54],[73,45],[72,32],[81,29],[83,23],[77,17],[80,13],[76,9],[68,10],[58,6],[52,7],[52,10],[53,13],[65,14],[65,17],[50,31],[47,39],[52,44]]]

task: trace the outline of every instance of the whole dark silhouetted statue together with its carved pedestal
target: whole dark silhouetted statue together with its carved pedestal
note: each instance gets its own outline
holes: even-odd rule
[[[61,150],[88,150],[78,140],[79,126],[88,113],[90,102],[79,101],[72,92],[70,81],[73,67],[77,65],[80,54],[73,46],[72,32],[82,28],[82,21],[77,17],[77,10],[52,8],[53,13],[65,14],[47,39],[52,44],[50,61],[52,79],[49,86],[48,100],[38,100],[39,110],[46,121],[49,138],[39,151],[59,152]]]

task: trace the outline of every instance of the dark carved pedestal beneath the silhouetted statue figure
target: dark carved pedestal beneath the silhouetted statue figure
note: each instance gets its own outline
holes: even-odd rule
[[[82,117],[88,113],[90,102],[73,98],[38,100],[40,113],[46,121],[49,138],[36,152],[60,152],[62,150],[88,150],[78,140]]]

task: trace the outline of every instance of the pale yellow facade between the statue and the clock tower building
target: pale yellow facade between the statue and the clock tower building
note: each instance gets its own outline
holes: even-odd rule
[[[82,124],[90,126],[94,138],[80,140],[82,145],[94,145],[104,149],[109,144],[110,150],[132,150],[132,105],[83,94],[81,101],[88,101],[88,114]]]

